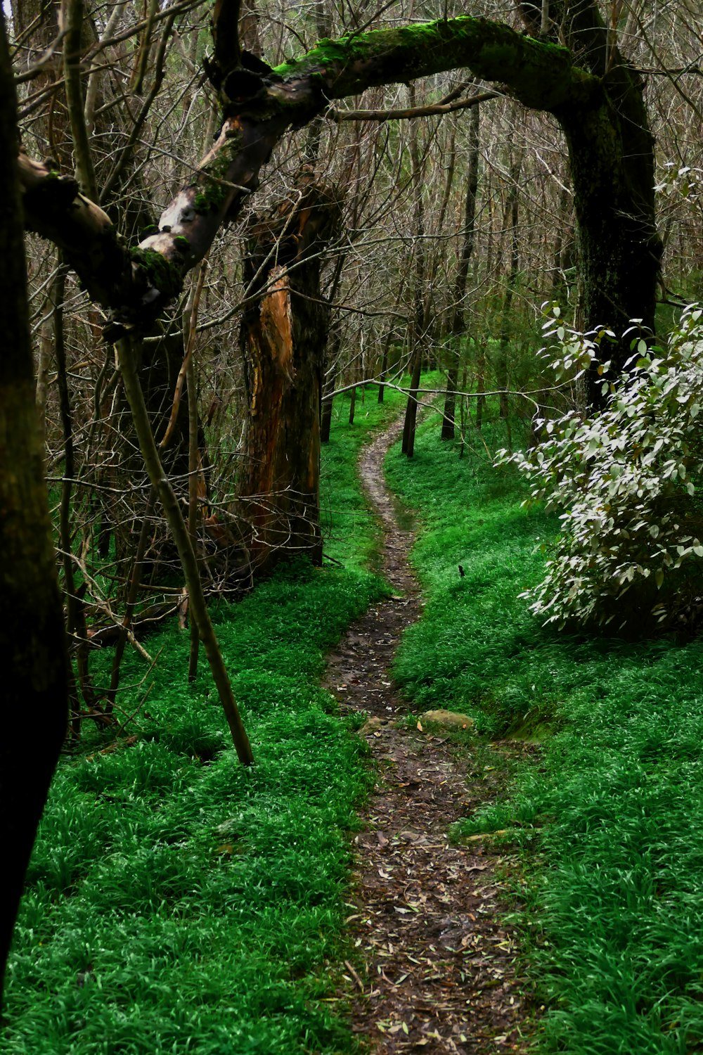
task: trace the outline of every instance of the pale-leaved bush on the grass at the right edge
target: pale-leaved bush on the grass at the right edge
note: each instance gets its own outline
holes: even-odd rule
[[[703,610],[702,318],[702,308],[687,308],[665,350],[636,338],[629,372],[609,386],[600,414],[539,421],[535,447],[499,453],[527,478],[532,501],[563,510],[547,574],[523,595],[546,622],[619,619],[622,628],[637,617],[644,629]],[[611,333],[569,330],[558,308],[546,328],[560,344],[558,376],[608,370],[599,359]]]

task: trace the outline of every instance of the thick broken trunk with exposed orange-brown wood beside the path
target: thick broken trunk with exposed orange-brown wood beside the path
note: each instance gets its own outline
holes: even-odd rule
[[[304,184],[298,202],[285,202],[248,233],[245,275],[261,299],[242,322],[249,416],[239,499],[255,574],[300,553],[321,560],[319,418],[330,311],[320,301],[319,249],[338,216],[329,190]]]

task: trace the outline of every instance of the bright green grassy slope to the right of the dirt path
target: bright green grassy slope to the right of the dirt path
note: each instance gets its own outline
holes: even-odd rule
[[[516,595],[539,579],[536,542],[555,521],[520,507],[482,446],[460,460],[438,433],[428,422],[414,461],[387,463],[423,525],[429,596],[396,673],[418,709],[468,710],[494,735],[551,733],[511,800],[461,826],[513,826],[539,849],[525,929],[548,1009],[538,1048],[703,1051],[703,642],[542,630]]]

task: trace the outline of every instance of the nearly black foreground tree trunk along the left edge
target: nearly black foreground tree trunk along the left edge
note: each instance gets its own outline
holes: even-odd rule
[[[0,25],[0,828],[4,972],[24,872],[66,726],[63,614],[43,480],[26,307],[15,88]]]

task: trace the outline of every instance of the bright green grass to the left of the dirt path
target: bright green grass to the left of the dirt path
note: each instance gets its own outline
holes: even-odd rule
[[[376,535],[353,466],[392,404],[369,394],[352,429],[343,411],[325,504],[345,567],[291,567],[214,613],[256,765],[237,763],[204,663],[187,685],[187,633],[147,640],[151,673],[125,658],[118,703],[135,740],[87,730],[60,766],[7,974],[3,1053],[354,1050],[330,997],[368,778],[319,678],[326,650],[384,589],[362,570]],[[100,660],[106,678],[111,654]]]

